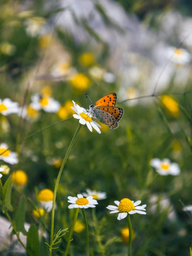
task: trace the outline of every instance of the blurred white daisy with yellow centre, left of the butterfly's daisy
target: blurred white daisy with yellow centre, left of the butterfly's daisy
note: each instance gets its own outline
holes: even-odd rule
[[[39,94],[35,94],[32,96],[32,103],[30,104],[31,108],[35,110],[43,109],[45,112],[55,113],[60,108],[59,101],[56,101],[55,99]]]

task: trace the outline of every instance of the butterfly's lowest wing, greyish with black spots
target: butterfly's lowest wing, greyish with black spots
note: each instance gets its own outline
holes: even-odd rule
[[[100,122],[107,125],[109,128],[116,129],[119,126],[118,122],[115,120],[115,118],[110,113],[107,113],[106,111],[103,111],[99,108],[95,109],[94,113],[95,113],[95,117]]]

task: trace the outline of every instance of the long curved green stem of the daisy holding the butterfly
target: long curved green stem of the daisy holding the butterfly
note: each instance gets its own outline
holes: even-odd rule
[[[54,188],[54,193],[53,193],[53,206],[52,206],[52,215],[51,215],[51,237],[50,237],[50,245],[52,244],[52,240],[53,240],[53,229],[54,229],[54,214],[55,214],[55,199],[56,199],[56,193],[57,193],[57,189],[58,189],[58,185],[59,185],[59,180],[60,180],[60,177],[61,177],[61,174],[62,174],[62,171],[63,171],[63,167],[66,163],[66,160],[67,160],[67,157],[69,155],[69,152],[71,150],[71,147],[77,137],[77,134],[79,133],[79,130],[80,128],[82,127],[82,125],[79,123],[79,126],[77,127],[77,130],[75,132],[75,135],[73,136],[72,140],[71,140],[71,143],[69,145],[69,148],[67,150],[67,153],[63,159],[63,162],[62,162],[62,165],[61,165],[61,168],[59,170],[59,174],[58,174],[58,177],[56,179],[56,183],[55,183],[55,188]],[[49,256],[52,255],[52,249],[50,249],[50,252],[49,252]]]

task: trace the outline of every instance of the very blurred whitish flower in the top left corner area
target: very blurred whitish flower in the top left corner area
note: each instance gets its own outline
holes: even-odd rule
[[[33,17],[25,20],[26,33],[31,37],[35,37],[41,34],[45,19],[42,17]]]

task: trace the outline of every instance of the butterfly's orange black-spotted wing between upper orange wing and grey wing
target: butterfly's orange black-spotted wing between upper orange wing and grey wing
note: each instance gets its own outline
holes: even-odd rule
[[[103,114],[103,112],[109,113],[111,116],[115,118],[117,122],[122,118],[124,110],[119,107],[115,106],[95,106],[93,108],[94,112],[96,109],[99,109],[100,111],[98,112],[99,114]]]

